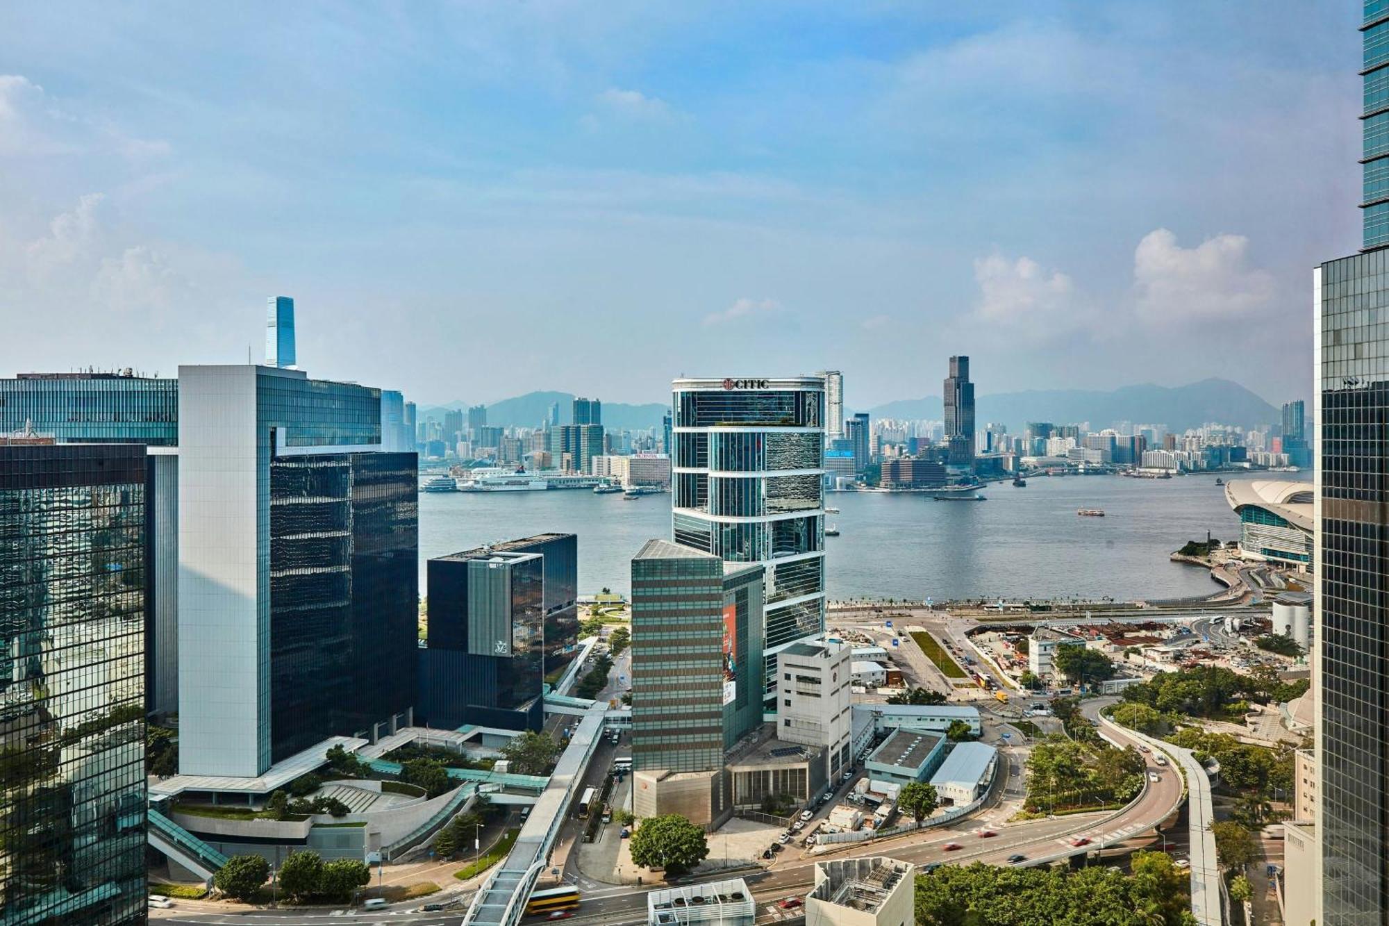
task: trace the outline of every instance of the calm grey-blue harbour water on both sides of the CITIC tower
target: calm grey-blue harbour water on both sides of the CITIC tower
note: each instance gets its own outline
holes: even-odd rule
[[[1215,588],[1206,571],[1171,563],[1168,553],[1206,531],[1239,535],[1214,476],[1038,477],[1026,488],[1003,482],[983,494],[985,502],[831,494],[826,503],[840,509],[825,519],[840,530],[825,539],[831,598],[1203,595]],[[582,592],[626,591],[632,555],[653,537],[669,537],[669,495],[421,494],[421,592],[431,556],[543,531],[579,535]],[[1104,509],[1106,517],[1078,517],[1078,507]]]

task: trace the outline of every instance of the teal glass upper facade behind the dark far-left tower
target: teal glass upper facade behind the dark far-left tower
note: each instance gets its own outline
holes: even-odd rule
[[[0,380],[0,434],[32,424],[58,442],[178,444],[178,380],[101,373]]]

